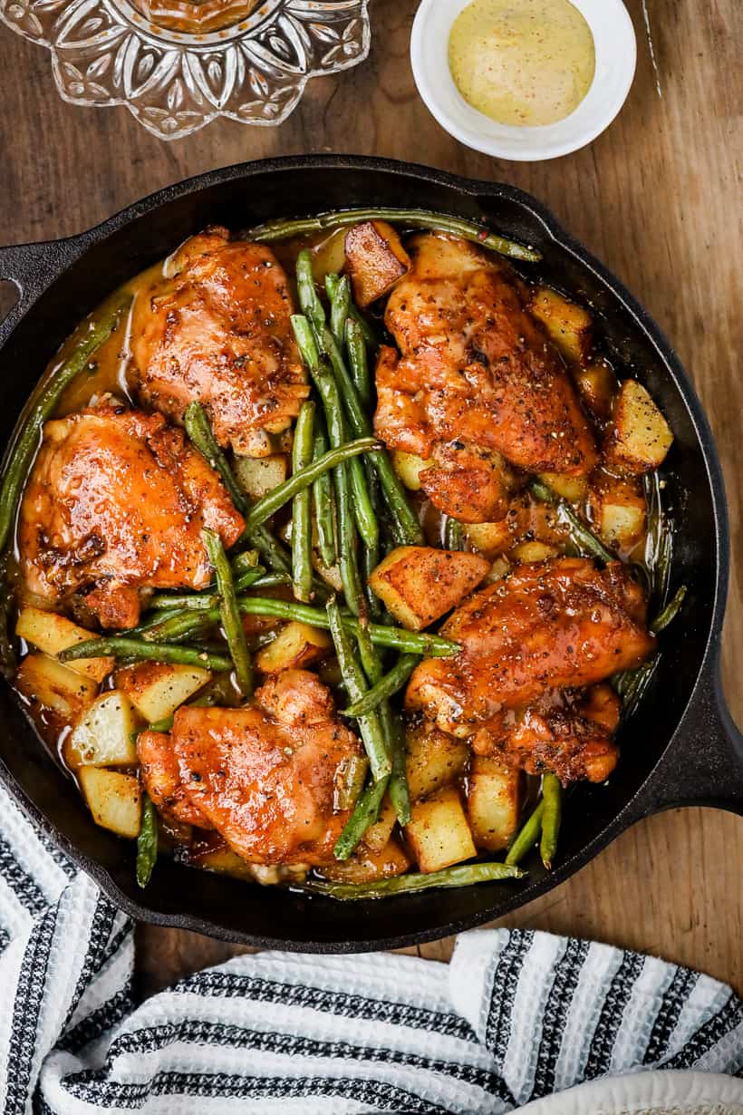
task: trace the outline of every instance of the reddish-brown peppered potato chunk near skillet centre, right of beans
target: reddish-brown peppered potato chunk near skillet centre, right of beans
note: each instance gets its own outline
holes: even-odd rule
[[[369,578],[369,583],[394,618],[420,631],[454,608],[487,574],[480,554],[398,546]]]

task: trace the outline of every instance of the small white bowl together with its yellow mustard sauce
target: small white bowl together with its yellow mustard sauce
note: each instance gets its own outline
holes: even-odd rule
[[[439,124],[499,158],[556,158],[609,126],[637,45],[622,0],[421,0],[410,55]]]

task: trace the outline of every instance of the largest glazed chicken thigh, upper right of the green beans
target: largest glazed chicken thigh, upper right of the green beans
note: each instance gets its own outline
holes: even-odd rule
[[[440,234],[408,248],[412,269],[384,318],[402,358],[381,350],[375,433],[392,449],[433,459],[423,489],[469,523],[505,514],[500,455],[530,473],[589,473],[590,426],[508,264]]]

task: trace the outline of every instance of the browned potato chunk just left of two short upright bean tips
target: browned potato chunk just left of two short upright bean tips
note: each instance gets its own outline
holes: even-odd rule
[[[478,847],[499,852],[518,828],[521,776],[512,767],[482,755],[472,756],[467,814]]]

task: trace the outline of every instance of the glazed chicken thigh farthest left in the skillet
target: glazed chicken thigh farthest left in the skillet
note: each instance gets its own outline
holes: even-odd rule
[[[143,588],[204,588],[202,527],[226,546],[243,517],[218,476],[162,415],[115,399],[46,424],[20,511],[27,588],[87,592],[104,627],[135,627]]]

